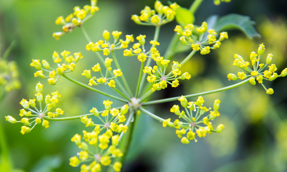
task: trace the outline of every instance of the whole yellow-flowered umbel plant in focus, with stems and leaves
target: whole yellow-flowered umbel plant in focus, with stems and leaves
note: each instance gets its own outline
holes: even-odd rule
[[[64,97],[61,97],[61,90],[43,96],[43,88],[46,86],[39,82],[36,84],[35,97],[20,101],[23,109],[20,110],[19,115],[25,117],[17,121],[12,116],[5,116],[6,121],[12,124],[22,123],[20,132],[26,134],[31,132],[37,124],[49,128],[49,122],[51,121],[80,119],[87,129],[76,133],[71,138],[71,141],[80,150],[77,155],[70,158],[70,165],[72,167],[80,165],[82,172],[101,171],[102,166],[110,166],[114,171],[121,171],[123,155],[129,148],[134,121],[139,113],[147,114],[162,122],[163,127],[175,128],[175,134],[183,144],[189,144],[190,140],[197,142],[197,139],[205,137],[207,134],[222,132],[224,124],[212,125],[212,121],[220,116],[220,100],[214,100],[212,108],[206,107],[204,106],[203,95],[225,91],[246,83],[251,85],[259,83],[267,94],[273,94],[274,90],[266,88],[263,80],[273,81],[277,77],[285,77],[287,68],[279,74],[276,73],[276,65],[271,64],[273,55],[270,53],[266,58],[263,56],[265,46],[262,43],[259,45],[258,50],[255,50],[256,52],[251,52],[251,64],[240,55],[234,55],[233,65],[243,71],[238,72],[237,75],[230,73],[227,75],[227,79],[233,81],[241,79],[243,81],[212,91],[152,100],[154,92],[167,87],[176,88],[181,80],[189,80],[192,84],[191,75],[186,71],[181,71],[181,67],[197,52],[205,55],[220,48],[221,44],[224,44],[224,40],[228,39],[228,33],[224,29],[236,29],[240,26],[241,30],[249,37],[258,36],[253,28],[253,22],[250,19],[246,20],[246,16],[236,14],[219,19],[210,17],[206,21],[202,21],[201,26],[194,25],[194,13],[202,1],[195,0],[189,9],[179,6],[177,3],[167,6],[160,1],[156,1],[154,9],[146,6],[140,11],[140,15],[132,15],[131,19],[136,24],[143,25],[143,27],[155,27],[153,40],[146,40],[144,33],[138,36],[133,34],[122,36],[120,31],[109,32],[107,30],[102,32],[102,40],[90,40],[82,26],[87,19],[96,15],[96,11],[99,10],[99,7],[96,6],[96,0],[91,0],[90,5],[85,5],[83,9],[76,6],[74,12],[67,17],[58,17],[55,23],[62,26],[62,31],[55,32],[53,37],[59,40],[67,32],[72,32],[74,28],[79,27],[87,39],[87,44],[82,46],[85,46],[87,51],[95,52],[99,57],[98,62],[93,64],[94,66],[91,69],[79,73],[87,79],[86,83],[81,83],[69,77],[68,73],[74,71],[79,60],[85,60],[82,53],[74,52],[71,54],[66,50],[60,53],[53,52],[52,58],[55,63],[53,65],[50,65],[44,59],[41,59],[41,61],[40,59],[32,60],[30,66],[37,70],[34,77],[47,79],[49,85],[57,84],[59,78],[64,77],[90,91],[105,95],[106,99],[101,100],[103,106],[93,107],[89,110],[89,114],[59,117],[64,115],[64,110],[57,107],[59,99],[64,99]],[[214,4],[219,5],[221,1],[223,0],[215,0]],[[228,0],[225,1],[228,2]],[[160,42],[158,42],[160,28],[173,20],[176,20],[178,25],[171,28],[175,34],[162,56],[162,53],[157,50],[157,46],[160,45]],[[126,60],[129,60],[129,58],[139,60],[141,66],[137,69],[139,75],[135,89],[130,89],[130,84],[125,79],[129,77],[129,73],[122,72],[115,51],[121,51],[123,56],[126,56]],[[184,60],[172,60],[176,53],[184,51],[189,52]],[[106,89],[113,89],[116,95],[110,95],[97,89],[99,84],[105,85]],[[135,92],[133,93],[131,90],[135,90]],[[122,105],[114,107],[113,100],[121,101]],[[163,119],[146,109],[146,107],[155,103],[176,100],[180,102],[180,105],[178,103],[178,105],[174,104],[170,107],[170,116],[173,115],[172,113],[178,116],[178,119],[174,121],[171,121],[171,118]],[[95,118],[98,118],[100,123],[95,123]],[[124,135],[127,136],[123,137]],[[126,144],[119,144],[122,139],[127,140]]]

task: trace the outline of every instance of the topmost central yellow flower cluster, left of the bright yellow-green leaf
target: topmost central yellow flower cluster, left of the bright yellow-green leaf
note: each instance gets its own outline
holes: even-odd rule
[[[170,6],[172,7],[172,5]],[[140,16],[135,14],[131,16],[131,19],[136,24],[161,26],[174,19],[175,11],[171,7],[164,6],[160,1],[156,1],[153,10],[146,6],[141,10]]]

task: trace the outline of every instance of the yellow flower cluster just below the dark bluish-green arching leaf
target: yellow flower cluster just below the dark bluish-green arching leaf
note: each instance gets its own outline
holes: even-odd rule
[[[195,26],[193,24],[188,24],[184,26],[184,29],[182,29],[181,26],[177,25],[174,28],[174,31],[181,36],[179,40],[181,40],[183,44],[191,46],[191,48],[195,51],[200,50],[200,54],[210,53],[210,49],[219,48],[221,41],[228,39],[227,32],[221,32],[219,38],[217,39],[217,33],[214,29],[207,30],[208,26],[205,21],[202,22],[201,26],[197,27],[196,29],[194,29],[194,27]],[[209,33],[206,37],[204,37],[205,32]]]

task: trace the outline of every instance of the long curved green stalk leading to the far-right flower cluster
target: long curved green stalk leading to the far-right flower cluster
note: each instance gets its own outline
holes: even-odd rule
[[[234,84],[234,85],[230,85],[230,86],[227,86],[227,87],[223,87],[223,88],[220,88],[220,89],[215,89],[215,90],[212,90],[212,91],[205,91],[205,92],[196,93],[196,94],[189,94],[189,95],[184,95],[184,96],[185,96],[185,98],[190,98],[190,97],[197,97],[197,96],[200,96],[200,95],[207,95],[207,94],[212,94],[212,93],[218,93],[218,92],[221,92],[221,91],[226,91],[226,90],[229,90],[229,89],[232,89],[232,88],[235,88],[235,87],[239,87],[239,86],[244,85],[244,84],[246,84],[248,82],[249,82],[249,79],[246,79],[244,81],[241,81],[240,83],[237,83],[237,84]],[[181,96],[179,96],[179,97],[181,97]],[[179,97],[171,97],[171,98],[168,98],[168,99],[148,101],[148,102],[142,103],[142,105],[143,106],[147,106],[147,105],[153,105],[153,104],[156,104],[156,103],[164,103],[164,102],[169,102],[169,101],[175,101]]]

